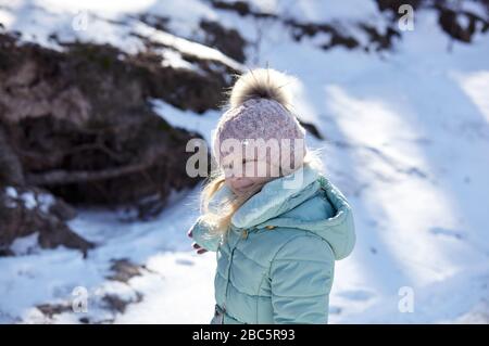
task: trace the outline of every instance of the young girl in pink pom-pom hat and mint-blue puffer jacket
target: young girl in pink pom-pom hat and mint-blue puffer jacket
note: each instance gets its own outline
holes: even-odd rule
[[[240,76],[213,134],[217,170],[188,232],[199,254],[217,253],[211,323],[327,323],[335,260],[354,246],[347,200],[312,152],[300,151],[305,130],[289,107],[287,80],[269,68]],[[229,139],[242,152],[227,150]],[[291,154],[247,150],[260,139],[276,140],[280,153],[291,143]]]

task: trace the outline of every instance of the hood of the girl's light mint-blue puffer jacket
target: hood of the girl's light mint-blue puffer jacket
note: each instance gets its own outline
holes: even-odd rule
[[[220,201],[230,193],[230,189],[223,185],[211,200],[210,208],[217,208]],[[288,212],[317,195],[329,202],[331,213],[324,213],[319,218],[317,215],[313,218],[305,215],[302,217],[301,214],[288,215]],[[336,259],[347,257],[355,243],[350,204],[327,178],[309,165],[264,184],[260,192],[233,215],[231,226],[250,230],[276,226],[310,231],[328,242]]]

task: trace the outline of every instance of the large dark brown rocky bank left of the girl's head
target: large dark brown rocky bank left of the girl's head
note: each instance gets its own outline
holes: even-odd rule
[[[42,187],[75,204],[126,205],[198,182],[186,144],[200,134],[172,127],[149,99],[197,113],[217,108],[228,67],[164,67],[148,50],[63,43],[59,52],[0,35],[0,162],[7,181]],[[216,62],[212,62],[214,65]],[[60,204],[61,205],[61,204]],[[66,209],[59,205],[58,216]]]

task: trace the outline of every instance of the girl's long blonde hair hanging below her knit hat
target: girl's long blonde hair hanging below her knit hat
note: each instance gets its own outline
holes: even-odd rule
[[[303,165],[308,165],[318,171],[323,170],[322,161],[319,158],[319,151],[308,150],[304,156]],[[301,167],[298,167],[301,168]],[[277,177],[279,178],[279,177]],[[276,179],[276,178],[274,178]],[[260,192],[261,188],[258,187],[254,191],[246,195],[231,194],[229,198],[220,201],[218,206],[215,208],[216,212],[209,208],[209,204],[212,196],[223,188],[226,182],[224,171],[221,167],[217,167],[213,172],[211,172],[209,179],[206,180],[202,192],[200,194],[200,209],[202,214],[203,221],[208,225],[209,236],[225,236],[229,231],[233,215],[239,209],[239,207],[244,204],[254,194]],[[266,183],[266,182],[265,182]]]

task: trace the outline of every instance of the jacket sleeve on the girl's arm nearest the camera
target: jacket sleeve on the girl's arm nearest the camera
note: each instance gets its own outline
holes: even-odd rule
[[[275,323],[327,323],[335,256],[315,235],[288,241],[271,265]]]

